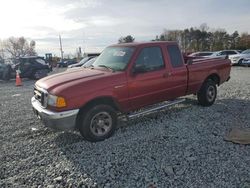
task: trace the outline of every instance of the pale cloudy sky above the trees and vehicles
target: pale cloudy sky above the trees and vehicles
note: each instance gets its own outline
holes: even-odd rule
[[[65,54],[81,46],[100,51],[120,36],[154,39],[163,29],[207,23],[211,29],[250,33],[250,0],[3,0],[0,39],[24,36],[40,55]]]

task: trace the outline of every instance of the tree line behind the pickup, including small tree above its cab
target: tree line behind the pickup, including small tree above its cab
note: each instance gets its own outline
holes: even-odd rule
[[[134,40],[131,35],[128,35],[121,37],[118,43],[133,42]],[[177,41],[184,52],[250,49],[248,33],[240,35],[238,31],[229,34],[225,29],[210,30],[207,24],[202,24],[199,28],[191,27],[184,30],[164,29],[152,41]]]

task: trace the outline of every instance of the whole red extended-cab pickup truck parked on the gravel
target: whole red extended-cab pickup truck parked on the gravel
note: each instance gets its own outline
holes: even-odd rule
[[[46,126],[78,129],[85,139],[101,141],[114,133],[121,114],[149,113],[189,94],[212,105],[217,86],[230,78],[230,60],[186,60],[176,42],[112,45],[89,68],[38,80],[31,103]]]

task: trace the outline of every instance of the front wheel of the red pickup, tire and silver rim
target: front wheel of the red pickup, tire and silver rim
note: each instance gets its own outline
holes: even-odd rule
[[[117,114],[111,106],[100,104],[84,110],[79,121],[81,135],[88,141],[98,142],[114,133]]]

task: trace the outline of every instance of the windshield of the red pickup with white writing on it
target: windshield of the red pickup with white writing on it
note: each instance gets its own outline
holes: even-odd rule
[[[123,71],[133,52],[133,47],[107,47],[93,63],[93,66],[107,67],[114,71]]]

